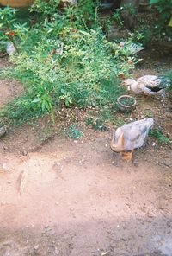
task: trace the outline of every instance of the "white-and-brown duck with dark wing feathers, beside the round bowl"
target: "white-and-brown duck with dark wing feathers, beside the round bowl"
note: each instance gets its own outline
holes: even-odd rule
[[[134,93],[155,95],[162,93],[163,89],[170,85],[170,80],[165,76],[144,75],[138,80],[126,79],[122,85],[128,86],[128,90],[132,90]]]

